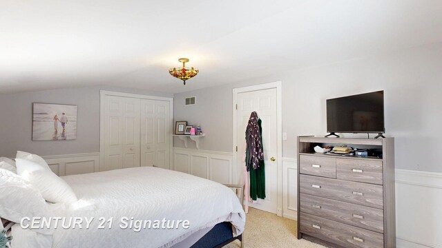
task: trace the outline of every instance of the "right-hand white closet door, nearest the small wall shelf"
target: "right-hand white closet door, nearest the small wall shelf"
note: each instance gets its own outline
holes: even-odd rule
[[[141,165],[170,169],[170,102],[141,100]]]

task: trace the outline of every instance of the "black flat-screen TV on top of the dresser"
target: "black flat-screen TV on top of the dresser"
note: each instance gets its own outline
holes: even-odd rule
[[[384,133],[384,92],[328,99],[327,132]]]

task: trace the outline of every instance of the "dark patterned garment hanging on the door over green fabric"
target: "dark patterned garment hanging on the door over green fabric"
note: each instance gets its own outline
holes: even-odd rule
[[[258,126],[258,114],[252,112],[250,114],[249,123],[246,130],[246,167],[247,172],[250,171],[250,167],[258,169],[259,161],[264,160],[264,152],[262,152],[260,129]]]

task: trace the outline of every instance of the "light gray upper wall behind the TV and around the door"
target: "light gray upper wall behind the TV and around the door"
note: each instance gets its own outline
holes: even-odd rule
[[[175,94],[174,118],[202,126],[207,136],[200,149],[231,152],[233,88],[281,80],[282,132],[288,136],[282,154],[296,158],[296,136],[325,134],[326,99],[385,90],[385,129],[387,136],[396,138],[396,167],[442,172],[442,158],[434,152],[442,144],[441,65],[442,45],[434,44],[294,70]],[[196,96],[197,104],[185,106],[187,96]],[[175,138],[174,146],[182,147],[182,141]],[[189,146],[195,148],[193,143]]]

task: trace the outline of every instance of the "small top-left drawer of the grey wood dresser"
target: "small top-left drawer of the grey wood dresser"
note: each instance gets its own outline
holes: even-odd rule
[[[336,178],[336,158],[300,155],[299,172],[301,174]]]

